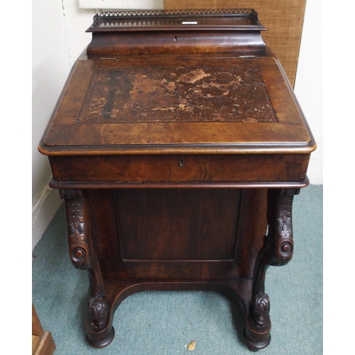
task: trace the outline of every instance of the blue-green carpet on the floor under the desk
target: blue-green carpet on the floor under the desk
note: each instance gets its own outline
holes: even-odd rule
[[[293,260],[268,268],[271,343],[258,354],[323,354],[323,187],[310,185],[293,204]],[[55,354],[236,355],[252,354],[243,342],[244,321],[228,297],[208,291],[143,292],[131,295],[114,315],[114,340],[94,349],[85,340],[89,300],[86,271],[72,266],[64,207],[33,251],[32,300]],[[195,340],[195,350],[187,344]]]

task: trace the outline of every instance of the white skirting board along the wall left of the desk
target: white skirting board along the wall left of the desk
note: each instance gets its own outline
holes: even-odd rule
[[[32,250],[62,205],[58,190],[45,187],[32,211]]]

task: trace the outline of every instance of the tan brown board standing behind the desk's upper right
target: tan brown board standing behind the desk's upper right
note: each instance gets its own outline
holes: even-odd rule
[[[305,0],[164,0],[166,10],[254,9],[266,28],[262,37],[280,60],[292,86],[295,84],[305,4]]]

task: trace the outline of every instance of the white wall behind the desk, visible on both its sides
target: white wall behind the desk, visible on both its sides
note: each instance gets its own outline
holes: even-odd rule
[[[121,9],[162,9],[163,0],[33,0],[33,247],[48,226],[62,201],[58,191],[48,189],[48,158],[37,150],[40,137],[50,119],[55,102],[72,64],[91,40],[85,33],[92,17],[100,9],[81,6],[118,4]],[[106,7],[107,9],[107,7]],[[313,184],[322,184],[322,9],[321,0],[307,0],[300,60],[295,92],[317,141],[308,176]]]

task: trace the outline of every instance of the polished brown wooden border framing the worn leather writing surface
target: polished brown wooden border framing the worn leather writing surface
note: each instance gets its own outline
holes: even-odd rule
[[[277,121],[259,123],[248,120],[249,115],[244,115],[241,121],[234,122],[205,121],[196,123],[189,119],[190,121],[183,123],[177,121],[125,124],[102,123],[102,121],[100,123],[78,123],[78,115],[84,99],[87,97],[87,89],[94,70],[106,68],[118,70],[134,66],[141,68],[141,70],[150,67],[152,72],[155,70],[161,72],[163,67],[172,68],[180,67],[180,65],[185,67],[204,66],[209,67],[208,70],[217,70],[221,67],[232,70],[231,68],[238,66],[256,65],[265,83],[265,89],[270,97]],[[187,72],[189,72],[188,70]],[[234,79],[238,80],[237,76]],[[212,88],[213,80],[210,80],[209,84]],[[129,85],[133,87],[132,82],[129,82]],[[198,82],[195,82],[195,89],[198,89],[197,85]],[[155,91],[155,97],[158,94],[159,92]],[[108,97],[110,93],[102,92],[101,95]],[[226,95],[222,94],[221,97],[220,100],[226,102]],[[250,97],[252,95],[249,95],[249,100]],[[266,103],[265,97],[263,100]],[[209,104],[211,103],[209,102]],[[229,112],[233,108],[230,107]],[[258,108],[253,107],[252,109]],[[208,108],[204,107],[203,113],[208,114],[207,111]],[[150,114],[153,115],[153,113]],[[112,151],[116,154],[129,153],[130,151],[131,153],[133,151],[134,153],[156,153],[157,149],[165,153],[168,153],[170,149],[173,149],[175,153],[180,151],[194,153],[195,149],[204,153],[211,150],[229,150],[233,153],[245,153],[245,151],[253,153],[268,151],[270,153],[272,150],[283,153],[300,151],[310,153],[315,148],[312,135],[305,124],[295,95],[288,87],[288,83],[285,82],[278,62],[272,59],[268,52],[253,58],[239,58],[237,55],[218,55],[217,57],[213,55],[185,55],[185,58],[165,55],[135,55],[120,57],[119,60],[79,60],[73,67],[70,84],[63,91],[58,109],[55,111],[48,133],[45,133],[43,143],[43,146],[40,146],[40,151],[50,155],[62,154],[64,151],[67,151],[67,154],[74,154],[82,149],[86,153],[102,153],[104,151],[109,153],[113,147]]]

